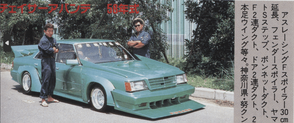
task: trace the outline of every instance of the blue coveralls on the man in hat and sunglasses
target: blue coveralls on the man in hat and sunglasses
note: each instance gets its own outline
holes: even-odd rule
[[[146,31],[141,31],[139,32],[139,35],[137,36],[136,34],[133,34],[132,37],[128,40],[133,40],[133,41],[141,41],[145,46],[142,48],[133,48],[134,54],[144,56],[147,58],[150,58],[150,50],[149,50],[149,45],[150,45],[150,34]]]

